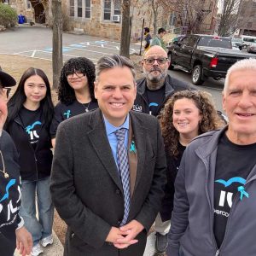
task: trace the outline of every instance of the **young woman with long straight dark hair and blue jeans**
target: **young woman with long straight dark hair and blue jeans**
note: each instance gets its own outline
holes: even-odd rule
[[[8,102],[6,130],[20,154],[22,201],[20,216],[32,234],[32,256],[53,243],[54,207],[49,194],[52,152],[49,135],[54,106],[49,80],[43,70],[30,67],[21,76]],[[36,195],[38,218],[36,217]],[[40,245],[41,243],[41,245]]]

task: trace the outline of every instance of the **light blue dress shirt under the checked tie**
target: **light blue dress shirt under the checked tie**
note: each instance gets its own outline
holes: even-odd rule
[[[128,137],[129,137],[129,122],[130,122],[130,115],[129,113],[126,116],[125,119],[125,123],[123,125],[120,125],[119,127],[116,127],[114,125],[111,125],[108,122],[108,119],[105,118],[105,116],[103,115],[103,120],[105,123],[105,127],[106,127],[106,132],[107,132],[107,137],[108,137],[108,142],[110,144],[110,147],[112,149],[112,154],[113,154],[113,158],[115,160],[116,166],[118,167],[118,155],[117,155],[117,144],[118,144],[118,140],[117,137],[115,135],[115,131],[119,130],[120,128],[125,128],[125,148],[127,149],[128,147]]]

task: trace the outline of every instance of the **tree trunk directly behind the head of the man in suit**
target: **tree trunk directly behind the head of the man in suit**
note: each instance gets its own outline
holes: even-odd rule
[[[122,4],[122,32],[119,54],[130,57],[130,6],[131,0],[123,0]]]

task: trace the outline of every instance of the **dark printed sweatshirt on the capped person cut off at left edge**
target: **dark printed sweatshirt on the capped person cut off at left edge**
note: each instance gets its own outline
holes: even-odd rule
[[[8,174],[4,176],[3,172],[0,172],[0,254],[10,256],[15,252],[15,230],[21,221],[21,184],[18,153],[15,143],[6,131],[2,131],[0,136],[0,149],[3,155],[3,159],[0,157],[0,169],[3,171],[5,166]]]

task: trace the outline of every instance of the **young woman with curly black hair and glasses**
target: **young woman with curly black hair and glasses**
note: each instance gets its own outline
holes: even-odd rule
[[[95,65],[87,58],[69,59],[62,67],[58,88],[60,102],[55,106],[55,116],[50,127],[53,146],[57,127],[63,120],[98,108],[94,81]]]

